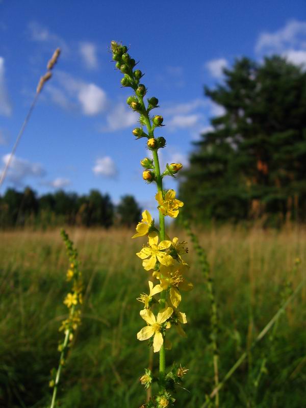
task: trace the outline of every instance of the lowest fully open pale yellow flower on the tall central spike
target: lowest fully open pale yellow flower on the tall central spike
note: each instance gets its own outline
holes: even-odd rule
[[[169,319],[172,313],[173,313],[172,308],[165,308],[158,313],[156,318],[150,310],[147,309],[141,310],[140,316],[143,318],[143,320],[147,322],[148,326],[143,327],[137,333],[137,339],[142,341],[147,340],[150,337],[154,336],[153,340],[154,352],[157,353],[158,351],[160,351],[164,343],[163,335],[161,333],[162,324],[165,323],[167,319]]]

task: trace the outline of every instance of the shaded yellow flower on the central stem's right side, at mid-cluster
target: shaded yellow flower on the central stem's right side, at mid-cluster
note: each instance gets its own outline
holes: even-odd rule
[[[186,269],[181,264],[174,264],[168,267],[161,265],[160,267],[160,282],[163,290],[167,290],[170,286],[170,300],[175,308],[181,303],[182,296],[180,291],[190,291],[193,288],[191,282],[188,282],[183,276],[183,271]]]

